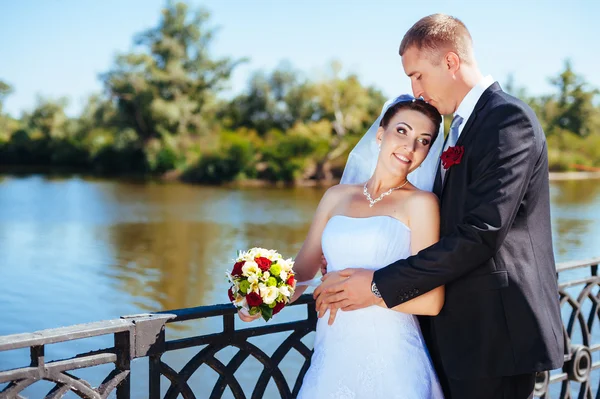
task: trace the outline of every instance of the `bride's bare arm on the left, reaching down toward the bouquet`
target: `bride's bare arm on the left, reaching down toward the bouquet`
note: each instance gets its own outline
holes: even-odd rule
[[[321,266],[321,255],[323,253],[321,248],[321,236],[323,235],[325,225],[327,225],[327,221],[331,218],[333,209],[338,202],[340,191],[343,190],[344,188],[339,185],[330,187],[323,195],[323,198],[321,198],[321,202],[317,207],[306,239],[294,260],[296,281],[301,282],[311,280],[319,271]],[[306,288],[306,286],[296,287],[290,302],[298,299],[304,291],[306,291]]]

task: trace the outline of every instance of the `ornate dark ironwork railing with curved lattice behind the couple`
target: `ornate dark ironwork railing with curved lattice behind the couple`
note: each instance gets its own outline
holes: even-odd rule
[[[566,341],[565,366],[562,370],[538,374],[536,397],[592,399],[600,395],[599,263],[600,258],[595,258],[557,266]],[[94,399],[108,398],[111,394],[114,397],[115,393],[117,399],[166,399],[180,395],[186,399],[224,396],[262,398],[272,397],[272,392],[282,398],[292,398],[298,393],[310,364],[311,349],[302,339],[314,331],[317,320],[310,295],[302,296],[293,306],[304,306],[307,316],[255,328],[236,329],[233,306],[215,305],[3,336],[0,337],[0,355],[12,350],[28,350],[30,364],[0,370],[0,399],[24,398],[23,391],[42,380],[49,381],[51,388],[41,395],[52,399],[62,398],[68,392]],[[179,323],[198,320],[219,322],[219,319],[222,322],[220,332],[167,339],[167,325],[176,327]],[[277,334],[283,334],[284,339],[270,355],[260,345],[250,342],[256,337]],[[45,361],[45,348],[49,345],[99,336],[112,336],[114,344],[69,359]],[[230,351],[230,356],[224,360],[220,352],[228,349],[236,352]],[[191,358],[187,361],[178,359],[181,364],[171,363],[173,359],[169,360],[169,354],[181,350],[191,351]],[[289,368],[282,367],[282,360],[292,352],[299,355],[299,360],[296,360],[299,365],[297,370],[290,372]],[[131,365],[135,364],[135,359],[142,358],[148,362],[148,385],[143,392],[135,392]],[[258,373],[251,377],[251,387],[243,389],[242,378],[236,372],[250,361],[258,362],[259,366],[253,367]],[[97,387],[75,375],[80,369],[107,364],[113,369]],[[192,380],[202,366],[212,370],[216,376],[214,383],[204,387],[208,388],[206,393],[199,396],[199,392],[192,388]],[[203,379],[200,383],[206,385],[206,381]],[[268,388],[271,390],[268,391]]]

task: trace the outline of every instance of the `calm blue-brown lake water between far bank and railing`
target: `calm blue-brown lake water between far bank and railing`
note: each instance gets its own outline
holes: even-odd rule
[[[225,303],[223,272],[236,250],[295,256],[323,192],[0,177],[0,335]],[[557,260],[600,256],[600,180],[553,182],[551,195]],[[46,357],[99,342],[57,345]],[[24,365],[28,353],[17,352],[0,354],[0,370]],[[134,380],[134,397],[146,397],[146,384]]]

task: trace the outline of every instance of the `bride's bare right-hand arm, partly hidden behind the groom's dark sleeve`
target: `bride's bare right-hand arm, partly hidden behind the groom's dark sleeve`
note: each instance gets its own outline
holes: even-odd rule
[[[432,193],[418,192],[407,201],[410,215],[411,252],[417,254],[440,239],[440,211],[437,197]],[[444,286],[434,288],[392,309],[416,315],[436,316],[444,306]],[[385,303],[381,303],[387,307]]]

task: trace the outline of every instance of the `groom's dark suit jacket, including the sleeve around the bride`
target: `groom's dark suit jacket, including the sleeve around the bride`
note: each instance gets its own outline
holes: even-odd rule
[[[456,144],[460,164],[443,184],[438,170],[434,186],[440,241],[374,275],[388,307],[445,284],[444,308],[423,330],[450,392],[460,381],[563,364],[544,132],[527,105],[494,83]]]

